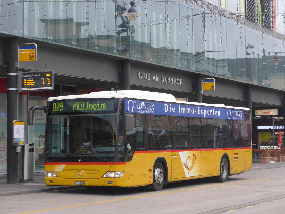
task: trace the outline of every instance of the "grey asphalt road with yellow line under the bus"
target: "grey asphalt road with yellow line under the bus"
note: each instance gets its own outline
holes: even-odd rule
[[[195,179],[144,188],[79,188],[1,197],[1,213],[285,213],[285,168],[252,170],[225,183]]]

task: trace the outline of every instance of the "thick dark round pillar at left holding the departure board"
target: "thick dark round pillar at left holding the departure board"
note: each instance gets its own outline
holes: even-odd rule
[[[13,120],[18,120],[18,38],[7,38],[7,183],[18,182],[18,154],[13,146]]]

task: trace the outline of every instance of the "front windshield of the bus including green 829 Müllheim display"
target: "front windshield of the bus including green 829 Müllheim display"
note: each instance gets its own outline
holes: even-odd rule
[[[93,108],[94,103],[104,104],[105,107]],[[117,105],[114,99],[50,102],[45,145],[46,159],[54,162],[61,159],[65,162],[113,160],[117,120],[115,106]]]

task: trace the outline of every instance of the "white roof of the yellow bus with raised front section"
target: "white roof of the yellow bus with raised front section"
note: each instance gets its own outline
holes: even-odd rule
[[[162,102],[176,102],[176,103],[192,104],[192,105],[198,104],[196,102],[177,101],[175,96],[173,96],[172,94],[164,94],[159,92],[140,91],[140,90],[98,91],[98,92],[91,92],[89,94],[50,97],[48,98],[48,101],[80,99],[80,98],[132,98],[132,99],[153,100],[153,101],[162,101]],[[224,104],[199,103],[199,105],[249,110],[249,108],[225,106]]]

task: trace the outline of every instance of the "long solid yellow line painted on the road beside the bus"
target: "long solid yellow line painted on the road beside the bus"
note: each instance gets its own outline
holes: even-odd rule
[[[191,189],[182,189],[182,190],[176,190],[176,191],[170,191],[170,192],[160,192],[160,193],[155,193],[155,194],[150,194],[150,195],[141,195],[141,196],[134,196],[134,197],[129,197],[129,198],[119,198],[119,199],[113,199],[113,200],[108,200],[108,201],[98,201],[98,202],[93,202],[93,203],[78,204],[78,205],[72,205],[72,206],[67,206],[67,207],[57,207],[57,208],[51,208],[51,209],[42,209],[42,210],[36,210],[36,211],[30,211],[30,212],[24,212],[24,213],[16,213],[16,214],[39,213],[39,212],[44,212],[44,211],[51,211],[51,210],[58,210],[58,209],[67,209],[67,208],[72,208],[72,207],[82,207],[82,206],[86,206],[86,205],[107,203],[107,202],[112,202],[112,201],[122,201],[122,200],[127,200],[127,199],[135,199],[135,198],[149,197],[149,196],[155,196],[155,195],[163,195],[163,194],[168,194],[168,193],[177,193],[177,192],[183,192],[183,191],[189,191],[189,190],[195,190],[195,189],[204,189],[204,188],[209,188],[209,187],[217,187],[217,186],[222,186],[222,185],[230,185],[230,184],[236,184],[236,183],[245,183],[245,182],[251,182],[251,181],[261,181],[261,180],[273,179],[273,178],[279,178],[279,177],[285,177],[285,175],[284,176],[278,176],[278,177],[261,178],[261,179],[255,179],[255,180],[249,180],[249,181],[239,181],[239,182],[233,182],[233,183],[222,183],[222,184],[211,185],[211,186],[206,186],[206,187],[196,187],[196,188],[191,188]]]

